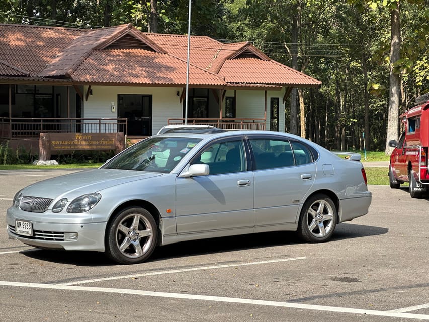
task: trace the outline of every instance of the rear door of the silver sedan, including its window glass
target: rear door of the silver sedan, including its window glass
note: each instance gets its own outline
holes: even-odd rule
[[[249,143],[254,155],[255,231],[294,228],[316,174],[312,152],[303,143],[275,136],[250,137]]]

